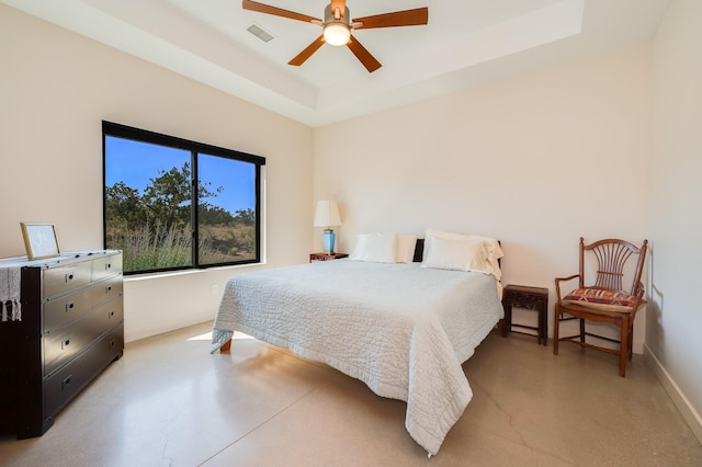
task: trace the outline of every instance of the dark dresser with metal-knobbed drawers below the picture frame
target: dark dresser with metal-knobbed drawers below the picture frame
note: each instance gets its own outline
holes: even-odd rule
[[[0,432],[41,436],[124,352],[122,252],[8,258],[0,269],[21,288],[21,318],[0,321]]]

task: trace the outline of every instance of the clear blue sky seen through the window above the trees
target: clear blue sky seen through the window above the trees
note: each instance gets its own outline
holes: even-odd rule
[[[158,176],[159,170],[169,171],[173,167],[180,170],[183,163],[190,162],[190,151],[111,136],[105,137],[105,184],[112,186],[122,181],[139,193],[150,179]],[[201,155],[199,170],[201,181],[212,182],[207,186],[211,192],[224,187],[206,202],[231,214],[237,209],[254,208],[254,164]]]

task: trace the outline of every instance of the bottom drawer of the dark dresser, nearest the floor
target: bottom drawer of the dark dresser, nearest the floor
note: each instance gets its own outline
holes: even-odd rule
[[[105,366],[122,355],[123,329],[101,338],[78,358],[44,379],[44,419],[54,417]]]

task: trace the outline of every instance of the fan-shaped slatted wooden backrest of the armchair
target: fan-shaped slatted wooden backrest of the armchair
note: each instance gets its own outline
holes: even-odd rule
[[[597,287],[642,297],[644,284],[641,282],[641,275],[644,271],[647,244],[648,240],[644,240],[638,248],[626,240],[614,238],[585,244],[582,237],[580,237],[580,288]],[[588,272],[586,253],[592,253],[596,265],[595,282],[589,285],[586,285],[586,273]],[[637,260],[633,270],[629,263],[632,258]],[[630,274],[633,276],[630,289],[625,289],[622,284],[625,273],[627,277]]]

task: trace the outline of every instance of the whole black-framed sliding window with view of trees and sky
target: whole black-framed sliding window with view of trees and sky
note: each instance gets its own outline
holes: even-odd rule
[[[125,274],[260,262],[265,158],[103,122],[104,247]]]

